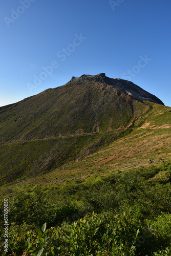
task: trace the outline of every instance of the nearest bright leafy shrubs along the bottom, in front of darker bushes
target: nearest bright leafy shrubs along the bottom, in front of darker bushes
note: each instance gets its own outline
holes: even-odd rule
[[[72,224],[47,230],[46,224],[33,230],[24,223],[10,228],[8,255],[169,256],[170,220],[171,215],[162,215],[153,224],[142,223],[130,214],[92,212]]]

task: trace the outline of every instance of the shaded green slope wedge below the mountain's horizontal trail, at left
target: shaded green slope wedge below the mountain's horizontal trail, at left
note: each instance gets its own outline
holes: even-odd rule
[[[92,154],[117,138],[118,133],[94,133],[68,138],[18,141],[0,145],[0,184],[47,173],[77,158]]]

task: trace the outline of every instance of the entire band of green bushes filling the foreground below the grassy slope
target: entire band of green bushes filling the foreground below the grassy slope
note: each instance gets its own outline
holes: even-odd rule
[[[163,161],[18,193],[9,204],[8,255],[170,255],[170,181],[171,163]]]

